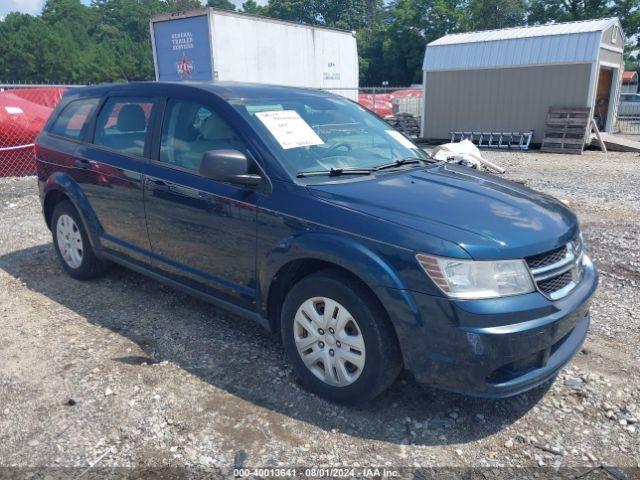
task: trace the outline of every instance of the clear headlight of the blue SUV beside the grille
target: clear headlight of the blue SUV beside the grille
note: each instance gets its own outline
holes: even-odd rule
[[[416,259],[447,296],[479,299],[535,291],[524,260],[474,261],[418,254]]]

